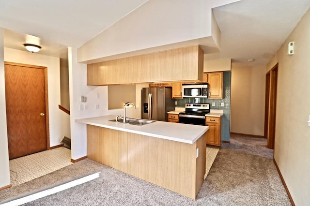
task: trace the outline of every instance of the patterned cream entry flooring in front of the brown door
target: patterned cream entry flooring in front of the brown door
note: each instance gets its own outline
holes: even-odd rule
[[[30,181],[72,164],[71,150],[65,147],[38,152],[10,160],[11,184]]]

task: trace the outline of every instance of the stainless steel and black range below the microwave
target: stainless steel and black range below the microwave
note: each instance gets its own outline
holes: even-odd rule
[[[179,114],[179,122],[205,125],[205,115],[210,112],[209,103],[186,103],[185,112]]]

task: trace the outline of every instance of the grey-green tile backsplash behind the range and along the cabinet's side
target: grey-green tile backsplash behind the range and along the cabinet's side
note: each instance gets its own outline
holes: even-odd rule
[[[184,107],[185,103],[210,103],[210,109],[223,109],[221,118],[221,136],[223,141],[230,141],[230,117],[231,117],[231,71],[223,72],[223,99],[210,100],[208,98],[184,98],[175,99],[176,107]],[[215,106],[212,106],[215,103]],[[224,106],[221,106],[224,103]]]

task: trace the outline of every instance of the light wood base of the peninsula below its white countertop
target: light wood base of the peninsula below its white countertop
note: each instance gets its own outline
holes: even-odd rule
[[[205,152],[205,134],[187,144],[87,125],[89,159],[194,200],[203,183]]]

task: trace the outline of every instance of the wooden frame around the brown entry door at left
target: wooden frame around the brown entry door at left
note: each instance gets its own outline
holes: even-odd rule
[[[12,66],[21,66],[21,67],[30,67],[36,69],[43,69],[44,70],[44,93],[45,93],[45,122],[46,122],[46,133],[47,133],[47,150],[50,149],[49,147],[49,115],[48,115],[48,89],[47,89],[47,67],[30,65],[30,64],[21,64],[21,63],[14,63],[4,61],[4,64],[12,65]]]

